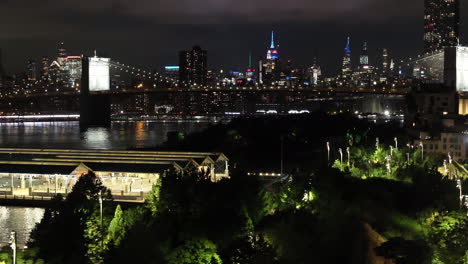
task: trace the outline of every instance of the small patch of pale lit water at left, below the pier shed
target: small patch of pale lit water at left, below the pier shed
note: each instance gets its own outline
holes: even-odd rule
[[[25,244],[43,216],[43,208],[0,206],[0,243],[8,243],[10,232],[15,231],[18,243]]]

